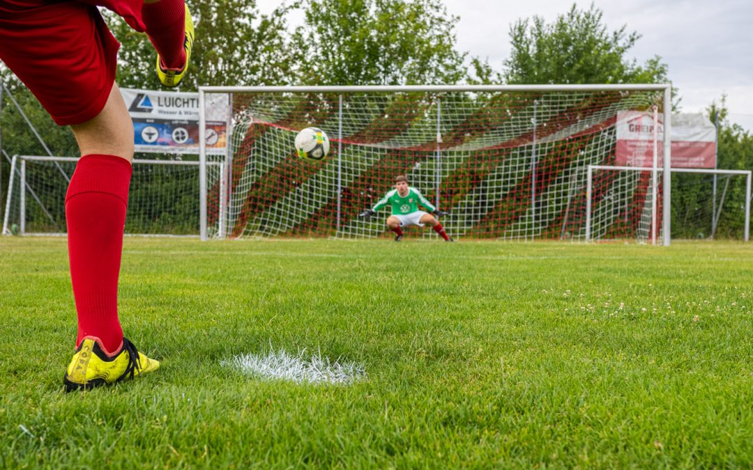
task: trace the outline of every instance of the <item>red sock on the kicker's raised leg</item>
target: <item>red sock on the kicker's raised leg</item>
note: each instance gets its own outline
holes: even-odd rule
[[[146,34],[167,68],[180,69],[186,62],[184,5],[184,0],[160,0],[142,7]]]

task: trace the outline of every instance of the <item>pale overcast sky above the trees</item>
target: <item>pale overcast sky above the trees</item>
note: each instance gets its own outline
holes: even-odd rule
[[[510,26],[534,15],[551,22],[574,2],[444,0],[460,17],[459,50],[488,58],[495,69],[510,55]],[[590,0],[576,0],[587,9]],[[727,94],[730,120],[753,131],[753,0],[596,0],[610,31],[627,25],[642,35],[628,57],[661,56],[678,87],[681,111],[703,111]],[[278,0],[258,0],[263,13]],[[295,17],[291,20],[296,21]]]

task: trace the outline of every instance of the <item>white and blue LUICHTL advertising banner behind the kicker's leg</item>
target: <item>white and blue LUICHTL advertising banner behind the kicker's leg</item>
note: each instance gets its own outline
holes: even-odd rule
[[[121,88],[136,152],[199,153],[199,93]],[[208,116],[229,116],[226,95],[208,95]],[[206,153],[224,155],[227,121],[206,121]]]

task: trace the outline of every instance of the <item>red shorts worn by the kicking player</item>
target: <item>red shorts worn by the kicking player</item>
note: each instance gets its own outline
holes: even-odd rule
[[[139,32],[143,0],[0,0],[0,59],[59,125],[105,107],[115,81],[115,40],[95,5]]]

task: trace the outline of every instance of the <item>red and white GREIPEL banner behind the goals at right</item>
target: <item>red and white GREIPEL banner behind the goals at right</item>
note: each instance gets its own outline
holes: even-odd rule
[[[662,166],[664,126],[659,114],[657,165]],[[714,168],[716,129],[703,114],[672,115],[672,168]],[[617,165],[651,168],[654,162],[654,114],[617,113]]]

